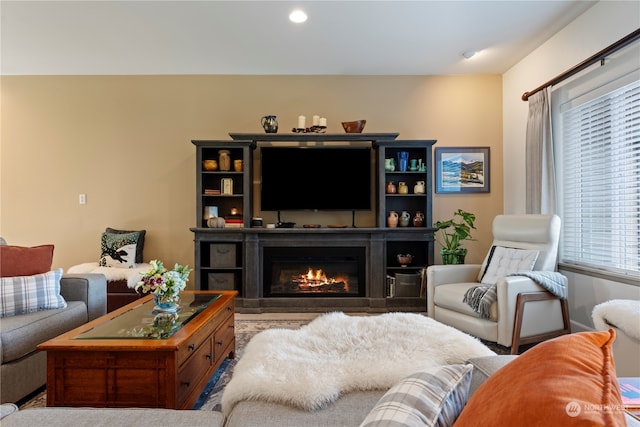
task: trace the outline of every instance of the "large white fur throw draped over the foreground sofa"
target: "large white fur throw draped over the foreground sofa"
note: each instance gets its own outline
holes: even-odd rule
[[[413,313],[333,312],[299,329],[269,329],[247,344],[222,395],[319,409],[341,394],[388,389],[424,368],[495,355],[477,338]]]

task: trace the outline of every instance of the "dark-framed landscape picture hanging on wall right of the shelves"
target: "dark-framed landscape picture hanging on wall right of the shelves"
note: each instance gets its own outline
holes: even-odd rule
[[[436,147],[436,193],[489,193],[489,147]]]

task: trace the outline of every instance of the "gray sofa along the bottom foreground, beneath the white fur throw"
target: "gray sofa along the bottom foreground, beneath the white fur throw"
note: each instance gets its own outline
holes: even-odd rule
[[[469,360],[473,374],[470,396],[494,372],[518,356],[488,356]],[[32,427],[46,420],[49,427],[96,426],[207,426],[207,427],[341,427],[358,426],[385,393],[383,390],[354,392],[342,396],[324,409],[306,412],[285,405],[260,401],[237,404],[228,417],[216,411],[171,409],[103,409],[103,408],[33,408],[18,410],[15,405],[2,405],[2,427]],[[627,426],[640,422],[626,415]]]

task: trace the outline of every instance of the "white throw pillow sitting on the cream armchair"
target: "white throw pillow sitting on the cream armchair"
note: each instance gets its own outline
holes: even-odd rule
[[[538,251],[503,246],[492,246],[489,251],[487,268],[482,274],[481,283],[495,285],[498,278],[519,271],[531,271],[538,259]]]

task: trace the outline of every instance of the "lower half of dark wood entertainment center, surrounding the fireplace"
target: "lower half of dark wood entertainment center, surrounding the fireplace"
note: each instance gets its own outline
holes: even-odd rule
[[[239,230],[197,228],[195,244],[200,259],[206,259],[208,248],[214,244],[236,245],[236,257],[241,267],[229,268],[236,282],[241,281],[241,293],[236,298],[239,313],[264,312],[388,312],[426,310],[424,297],[390,298],[387,295],[387,274],[397,265],[396,253],[410,251],[414,255],[414,271],[433,263],[432,238],[424,229],[407,228],[243,228]],[[409,243],[407,243],[409,242]],[[299,248],[316,248],[320,253],[359,248],[364,253],[364,286],[358,295],[268,295],[265,294],[264,251],[286,248],[296,252]],[[407,249],[409,248],[409,249]],[[408,273],[412,268],[395,267]],[[207,289],[208,269],[196,276],[196,287]]]

